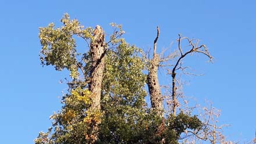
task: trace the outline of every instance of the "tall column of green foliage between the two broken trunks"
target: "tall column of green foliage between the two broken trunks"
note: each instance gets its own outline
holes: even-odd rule
[[[139,49],[125,41],[106,57],[102,89],[101,143],[134,143],[145,129],[146,75]],[[143,126],[144,123],[144,126]]]

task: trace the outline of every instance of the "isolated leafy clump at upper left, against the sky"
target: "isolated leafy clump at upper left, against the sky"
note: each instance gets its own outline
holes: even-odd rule
[[[55,66],[56,70],[70,70],[70,76],[77,78],[76,41],[74,36],[84,39],[92,38],[93,28],[84,28],[79,21],[70,20],[69,15],[65,14],[61,19],[63,26],[55,28],[54,23],[48,27],[39,28],[39,38],[42,45],[40,59],[42,64]]]

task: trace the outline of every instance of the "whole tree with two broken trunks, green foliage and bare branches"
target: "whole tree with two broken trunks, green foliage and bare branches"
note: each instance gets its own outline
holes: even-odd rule
[[[40,28],[42,64],[56,70],[70,72],[69,87],[62,98],[62,109],[51,116],[52,127],[40,132],[35,143],[178,143],[182,134],[190,129],[201,131],[202,121],[191,113],[184,113],[177,102],[178,70],[184,70],[181,61],[190,53],[203,53],[210,59],[205,45],[179,35],[179,52],[167,57],[157,53],[157,37],[152,59],[128,44],[122,35],[125,31],[112,23],[113,33],[105,41],[100,26],[84,28],[79,21],[65,14],[63,26],[54,23]],[[88,46],[79,52],[76,39],[82,38]],[[182,39],[191,49],[182,51]],[[172,111],[163,110],[163,95],[158,83],[157,70],[161,62],[176,60],[172,67]],[[148,71],[145,74],[145,70]],[[145,89],[148,85],[148,92]],[[145,96],[149,95],[151,107]],[[197,133],[195,133],[196,135]]]

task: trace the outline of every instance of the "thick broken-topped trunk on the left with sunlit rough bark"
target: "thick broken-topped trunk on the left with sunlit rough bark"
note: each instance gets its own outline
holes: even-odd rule
[[[89,90],[93,93],[93,110],[100,110],[101,84],[104,71],[105,35],[100,26],[94,30],[94,38],[91,41],[90,52],[93,63],[91,64]]]

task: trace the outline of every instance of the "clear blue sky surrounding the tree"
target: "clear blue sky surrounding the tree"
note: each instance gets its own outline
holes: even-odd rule
[[[0,0],[0,6],[1,143],[33,143],[38,132],[51,126],[49,116],[61,109],[66,85],[58,81],[66,73],[40,65],[38,27],[60,24],[66,12],[107,33],[109,23],[123,24],[127,41],[141,48],[152,48],[156,26],[161,28],[158,48],[168,47],[179,33],[201,39],[215,63],[191,59],[193,69],[205,75],[191,78],[184,91],[222,110],[221,123],[231,124],[227,138],[254,138],[256,1]]]

